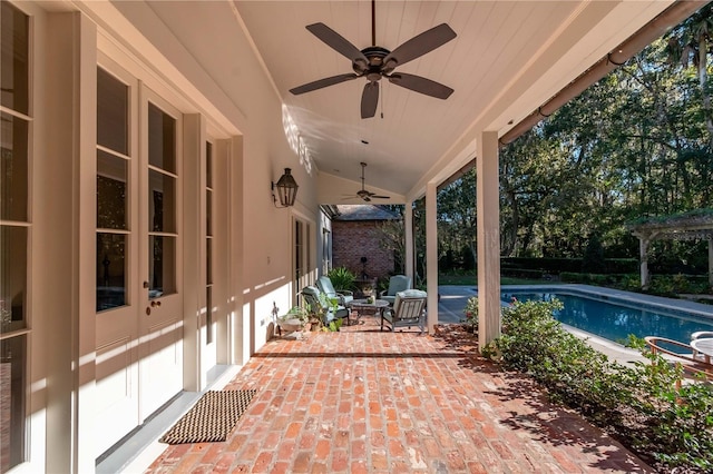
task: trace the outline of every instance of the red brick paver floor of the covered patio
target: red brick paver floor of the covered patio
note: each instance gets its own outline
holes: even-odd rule
[[[654,472],[470,344],[369,317],[273,339],[225,387],[258,391],[228,440],[167,446],[147,472]]]

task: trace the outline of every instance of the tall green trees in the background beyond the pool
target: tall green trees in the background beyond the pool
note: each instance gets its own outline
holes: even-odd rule
[[[500,149],[504,256],[580,258],[594,245],[587,236],[596,235],[605,257],[637,259],[628,223],[711,215],[712,12],[705,6]],[[475,241],[473,178],[468,171],[438,195],[445,266],[463,268],[460,249]],[[700,241],[654,246],[649,261],[705,263]]]

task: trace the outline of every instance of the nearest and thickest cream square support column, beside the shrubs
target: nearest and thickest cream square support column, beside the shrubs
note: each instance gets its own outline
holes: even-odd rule
[[[485,131],[477,148],[478,346],[500,336],[500,186],[498,134]]]

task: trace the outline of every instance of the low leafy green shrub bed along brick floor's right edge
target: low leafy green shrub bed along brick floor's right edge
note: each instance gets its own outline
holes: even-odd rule
[[[681,368],[643,350],[653,364],[634,368],[609,362],[561,328],[551,316],[561,304],[515,303],[504,309],[502,336],[484,350],[504,365],[533,376],[553,401],[578,409],[593,423],[649,457],[660,467],[713,468],[713,387],[675,382]]]

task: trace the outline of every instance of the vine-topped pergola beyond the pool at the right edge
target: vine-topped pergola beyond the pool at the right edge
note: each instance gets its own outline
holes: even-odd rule
[[[648,274],[648,247],[653,240],[709,241],[709,283],[713,287],[713,209],[696,209],[685,214],[651,217],[627,226],[638,237],[642,288],[651,283]]]

